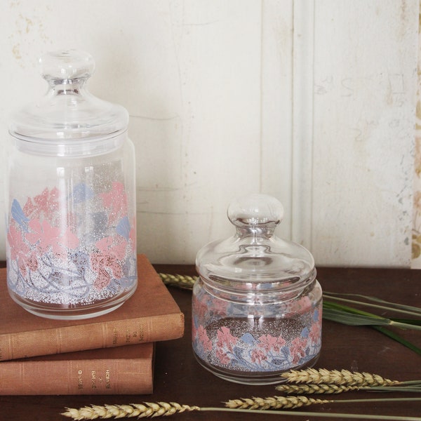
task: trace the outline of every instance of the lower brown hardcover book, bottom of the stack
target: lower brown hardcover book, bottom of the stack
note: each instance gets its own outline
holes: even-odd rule
[[[151,394],[153,367],[153,342],[2,361],[0,394]]]

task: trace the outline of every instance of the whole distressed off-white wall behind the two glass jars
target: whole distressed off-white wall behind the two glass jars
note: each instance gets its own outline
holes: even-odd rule
[[[416,0],[0,8],[1,142],[9,109],[46,89],[39,55],[90,52],[88,87],[131,115],[138,246],[152,262],[193,262],[232,234],[229,201],[261,191],[286,208],[278,234],[318,265],[409,265]],[[3,225],[2,258],[4,237]]]

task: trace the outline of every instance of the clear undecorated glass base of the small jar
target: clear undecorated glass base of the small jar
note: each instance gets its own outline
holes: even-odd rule
[[[276,385],[278,383],[285,382],[286,379],[281,377],[283,373],[287,373],[290,370],[302,370],[305,368],[311,368],[319,359],[319,355],[314,356],[313,359],[307,361],[301,366],[291,367],[288,370],[281,371],[271,371],[271,372],[238,372],[234,370],[224,370],[223,368],[218,368],[215,366],[210,366],[210,364],[203,361],[194,353],[196,361],[206,370],[210,371],[213,375],[220,377],[222,380],[227,380],[228,382],[239,383],[241,385],[254,385],[254,386],[265,386],[265,385]]]

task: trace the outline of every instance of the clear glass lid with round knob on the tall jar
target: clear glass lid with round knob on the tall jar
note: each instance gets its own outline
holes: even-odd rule
[[[43,98],[11,115],[9,131],[29,142],[85,140],[126,131],[128,112],[88,92],[86,81],[95,62],[84,51],[47,53],[39,59],[41,76],[48,82]]]

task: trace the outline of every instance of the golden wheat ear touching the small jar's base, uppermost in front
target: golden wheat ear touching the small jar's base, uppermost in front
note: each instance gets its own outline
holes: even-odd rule
[[[357,373],[348,370],[326,370],[320,368],[307,368],[307,370],[290,370],[281,375],[291,383],[327,384],[346,386],[383,386],[396,385],[396,380],[385,379],[377,374]]]

